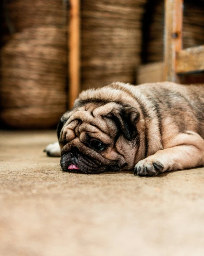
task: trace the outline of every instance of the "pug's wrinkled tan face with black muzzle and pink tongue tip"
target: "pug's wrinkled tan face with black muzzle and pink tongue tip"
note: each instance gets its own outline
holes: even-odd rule
[[[62,169],[102,173],[133,168],[138,121],[136,108],[118,102],[75,104],[58,125]]]

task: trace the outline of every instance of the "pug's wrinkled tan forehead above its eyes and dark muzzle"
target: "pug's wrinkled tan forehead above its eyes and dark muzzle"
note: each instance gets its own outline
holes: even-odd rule
[[[71,141],[83,132],[93,133],[102,141],[110,141],[116,134],[114,122],[106,115],[116,107],[114,103],[105,105],[88,103],[68,113],[62,132],[62,140]]]

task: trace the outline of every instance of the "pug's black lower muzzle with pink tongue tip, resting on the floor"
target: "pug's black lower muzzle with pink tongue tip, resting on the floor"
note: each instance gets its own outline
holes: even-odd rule
[[[69,154],[62,155],[60,160],[61,168],[64,172],[99,174],[104,172],[118,172],[120,170],[117,165],[103,165],[102,163],[98,163],[98,161],[96,162],[82,157],[71,157]]]

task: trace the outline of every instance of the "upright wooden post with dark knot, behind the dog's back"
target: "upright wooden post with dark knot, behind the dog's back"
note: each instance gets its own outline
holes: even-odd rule
[[[179,82],[176,54],[182,49],[183,0],[165,0],[164,80]]]

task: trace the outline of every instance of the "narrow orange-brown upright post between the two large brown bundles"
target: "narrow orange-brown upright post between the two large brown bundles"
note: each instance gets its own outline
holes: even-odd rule
[[[70,0],[70,23],[68,28],[68,108],[71,109],[80,92],[80,0]]]

